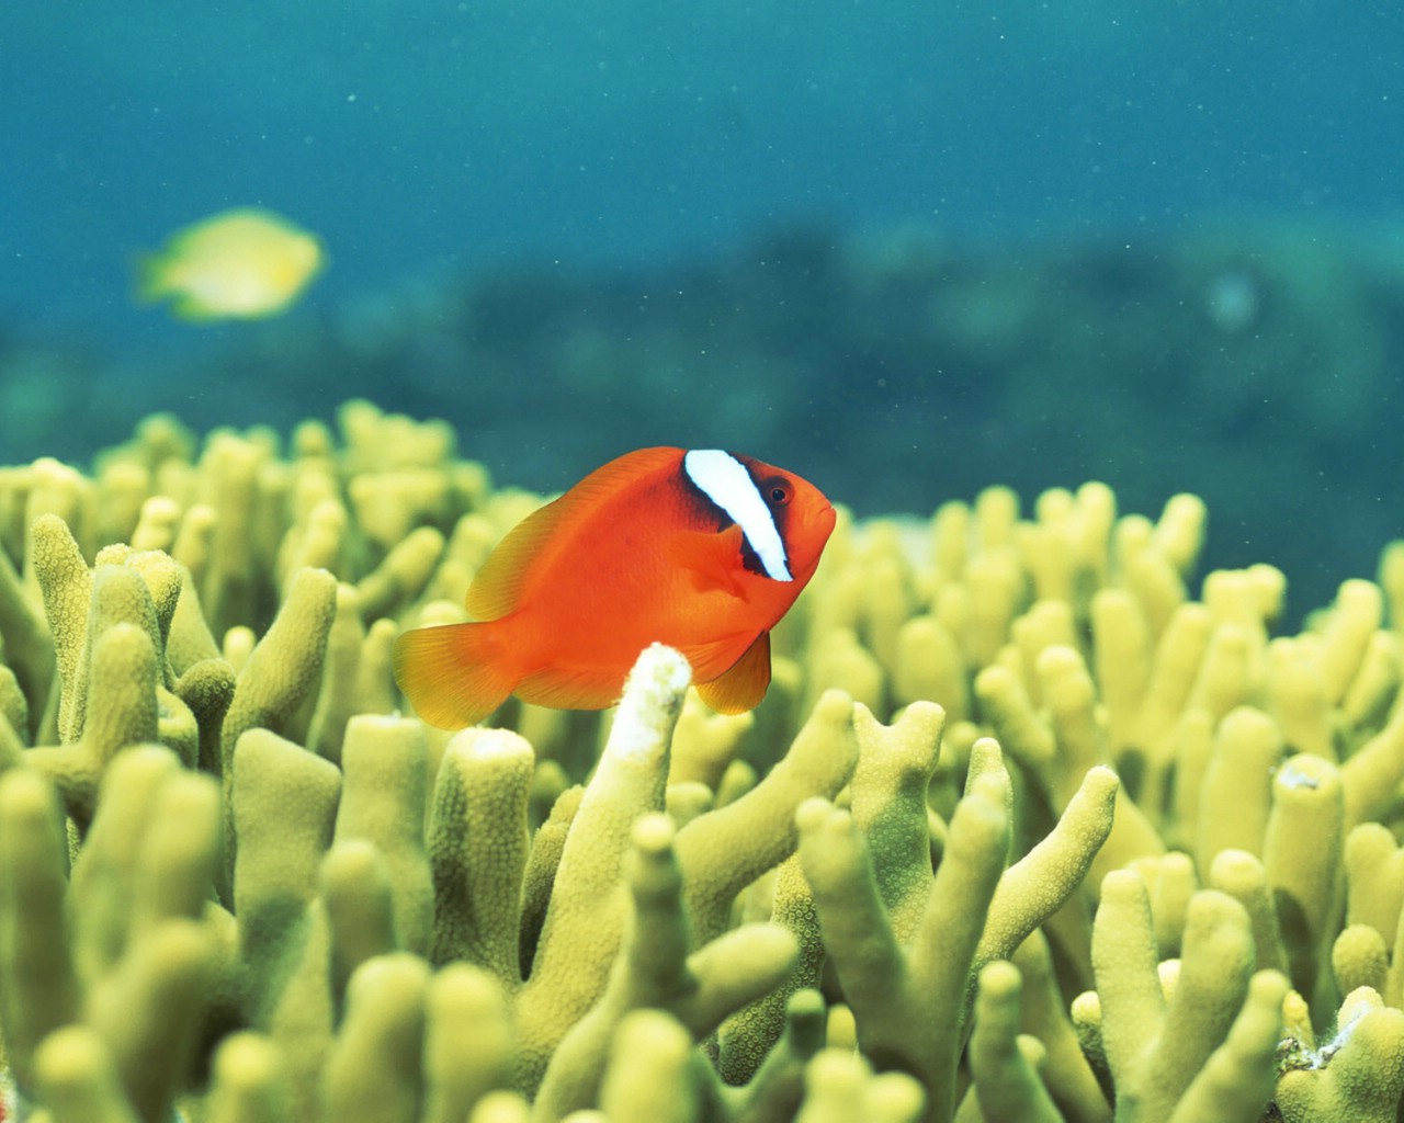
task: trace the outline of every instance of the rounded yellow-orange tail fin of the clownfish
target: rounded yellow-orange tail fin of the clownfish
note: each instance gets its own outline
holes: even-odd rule
[[[490,623],[417,627],[395,642],[395,681],[431,726],[463,729],[482,722],[517,686],[501,670],[501,644]]]

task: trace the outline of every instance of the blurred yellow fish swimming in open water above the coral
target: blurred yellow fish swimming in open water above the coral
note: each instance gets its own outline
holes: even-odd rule
[[[138,296],[183,320],[254,320],[286,309],[322,270],[322,241],[272,211],[192,222],[136,265]]]

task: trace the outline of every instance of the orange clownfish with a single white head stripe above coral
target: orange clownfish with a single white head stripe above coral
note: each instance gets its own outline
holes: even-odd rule
[[[790,472],[717,449],[630,452],[519,522],[468,591],[476,622],[406,632],[395,677],[420,717],[459,729],[512,693],[612,706],[658,642],[687,656],[703,702],[741,713],[833,529],[828,500]]]

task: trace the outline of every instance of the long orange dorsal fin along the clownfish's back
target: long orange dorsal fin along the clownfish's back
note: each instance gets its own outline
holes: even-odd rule
[[[675,467],[682,451],[642,448],[591,472],[566,494],[538,508],[497,543],[468,590],[468,611],[477,620],[514,612],[522,594],[556,550],[570,549],[573,532],[602,504],[657,469]]]

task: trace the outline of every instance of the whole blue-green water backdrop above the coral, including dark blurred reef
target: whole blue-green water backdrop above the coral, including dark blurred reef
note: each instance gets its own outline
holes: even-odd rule
[[[3,462],[354,392],[538,487],[667,441],[861,510],[1193,489],[1212,560],[1307,604],[1398,533],[1391,6],[146,0],[0,36]],[[292,312],[132,303],[138,250],[244,204],[326,241]]]

